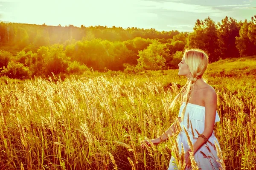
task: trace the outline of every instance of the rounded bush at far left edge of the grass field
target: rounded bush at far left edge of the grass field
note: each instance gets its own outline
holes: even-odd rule
[[[14,61],[9,62],[7,68],[3,66],[1,75],[12,79],[27,79],[31,77],[28,67],[25,67],[22,63]]]

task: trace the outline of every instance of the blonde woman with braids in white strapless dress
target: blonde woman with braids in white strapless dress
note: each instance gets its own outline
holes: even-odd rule
[[[180,76],[186,76],[188,81],[181,89],[180,93],[173,100],[170,108],[174,108],[176,102],[181,96],[182,105],[178,115],[180,122],[180,133],[177,136],[179,154],[184,149],[185,169],[190,169],[189,154],[193,154],[198,168],[202,170],[218,170],[221,164],[217,161],[215,142],[219,147],[213,131],[215,122],[220,118],[217,113],[217,95],[215,90],[208,85],[202,78],[208,65],[208,56],[204,51],[198,49],[186,50],[182,61],[178,64]],[[151,143],[159,144],[176,133],[175,123],[173,123],[165,133],[156,139],[151,139]],[[188,133],[188,134],[186,134]],[[189,147],[189,140],[193,147]],[[150,142],[144,141],[141,145],[150,145]],[[193,150],[192,150],[192,149]],[[176,156],[177,157],[177,156]],[[184,166],[183,166],[184,167]],[[180,168],[177,166],[175,156],[171,157],[168,170]]]

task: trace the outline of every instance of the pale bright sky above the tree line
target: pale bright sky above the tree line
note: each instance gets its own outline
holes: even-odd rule
[[[0,0],[0,21],[193,31],[197,19],[250,20],[256,0]]]

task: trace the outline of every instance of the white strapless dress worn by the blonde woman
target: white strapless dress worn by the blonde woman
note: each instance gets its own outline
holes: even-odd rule
[[[178,117],[181,117],[181,113],[182,113],[182,110],[184,107],[185,107],[185,102],[183,102],[182,105],[180,106],[180,111],[179,111]],[[191,121],[191,124],[192,124],[195,139],[192,135],[191,125],[188,126],[188,124],[187,124],[188,116],[189,116],[189,122]],[[186,130],[189,133],[189,138],[192,141],[192,143],[194,144],[198,138],[198,133],[201,134],[204,131],[204,117],[205,117],[205,107],[204,106],[195,105],[192,103],[187,104],[184,119],[182,122],[180,122],[180,127],[181,127],[182,131],[180,131],[180,133],[178,134],[177,139],[176,139],[180,153],[181,153],[181,143],[183,143],[183,148],[184,148],[185,153],[187,150],[189,150],[187,136],[186,136],[185,131],[183,130],[183,126],[185,126]],[[220,121],[220,117],[218,116],[218,112],[216,111],[215,122],[219,122],[219,121]],[[198,133],[196,132],[195,129],[198,131]],[[198,151],[195,153],[195,155],[194,155],[195,161],[198,165],[198,168],[199,169],[201,168],[201,170],[219,170],[221,167],[221,164],[218,161],[216,161],[216,160],[219,160],[219,158],[217,156],[217,151],[214,146],[214,144],[215,144],[214,141],[216,141],[219,148],[220,148],[220,145],[219,145],[217,138],[215,137],[214,131],[212,132],[212,136],[209,137],[208,141],[209,142],[207,142],[206,144],[203,144],[198,149]],[[207,149],[207,147],[208,147],[208,149]],[[177,170],[177,167],[175,164],[175,159],[172,156],[170,163],[169,163],[168,170],[174,170],[175,168]]]

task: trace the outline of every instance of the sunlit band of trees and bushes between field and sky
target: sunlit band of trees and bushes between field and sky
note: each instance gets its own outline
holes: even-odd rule
[[[18,52],[12,52],[12,48]],[[103,26],[0,23],[0,74],[47,77],[98,71],[137,72],[177,68],[185,48],[200,48],[209,61],[256,55],[256,15],[215,23],[197,20],[192,32]]]

